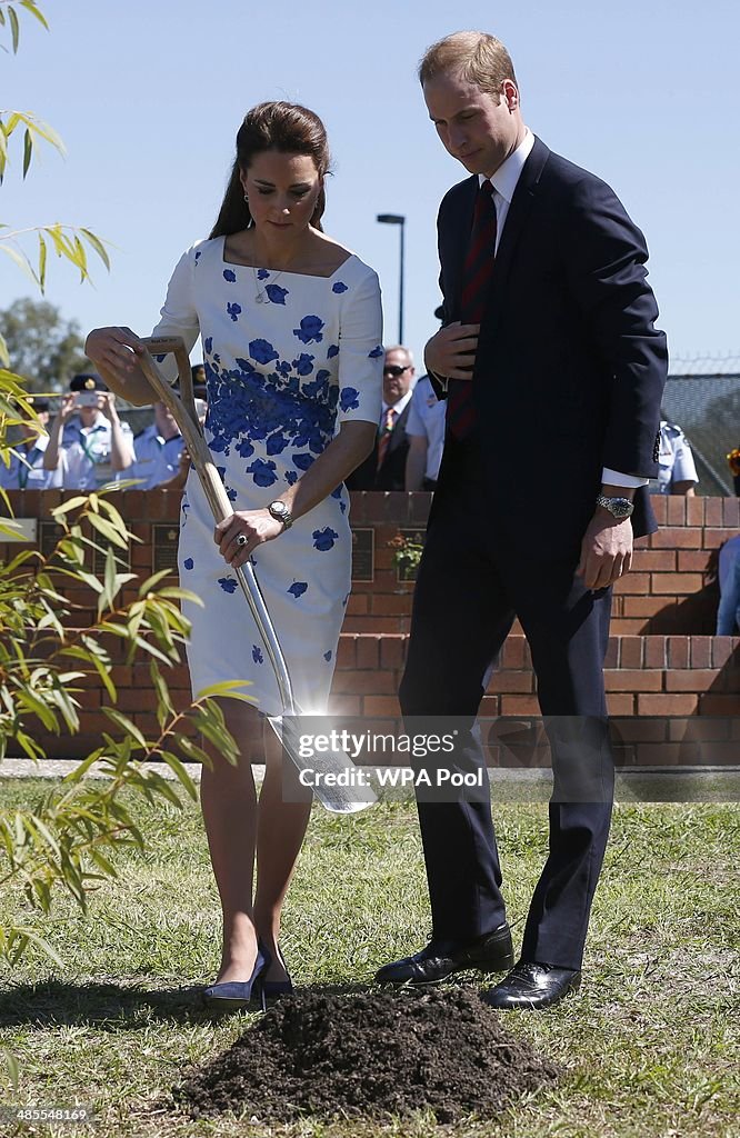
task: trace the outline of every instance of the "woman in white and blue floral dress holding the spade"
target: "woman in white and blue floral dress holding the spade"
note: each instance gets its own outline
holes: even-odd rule
[[[181,336],[188,349],[203,339],[205,436],[235,506],[214,534],[190,472],[179,563],[183,586],[204,601],[187,607],[194,693],[248,681],[245,693],[256,702],[223,701],[241,761],[232,767],[214,753],[202,777],[223,909],[221,968],[205,995],[222,1007],[290,990],[280,910],[310,813],[310,803],[283,801],[280,750],[263,729],[264,715],[281,710],[277,682],[231,570],[252,558],[296,700],[326,711],[350,593],[343,481],[371,451],[380,413],[378,279],[321,231],[328,167],[326,132],[312,112],[286,102],[253,108],[213,232],[181,257],[154,329]],[[123,327],[96,329],[87,341],[109,386],[138,404],[153,401],[135,361],[141,351]],[[257,802],[250,761],[262,757]]]

